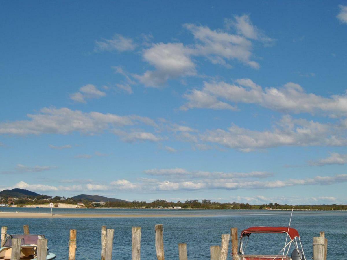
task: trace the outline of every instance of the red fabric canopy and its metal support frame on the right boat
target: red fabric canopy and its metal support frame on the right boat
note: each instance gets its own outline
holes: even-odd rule
[[[296,251],[299,254],[300,249],[299,249],[298,242],[297,242],[297,239],[298,239],[299,244],[300,244],[300,248],[301,248],[301,252],[302,252],[303,257],[304,257],[303,259],[306,259],[304,249],[303,249],[303,246],[301,244],[299,232],[295,228],[292,228],[292,227],[249,227],[247,229],[244,229],[240,235],[240,244],[239,244],[239,253],[238,253],[239,255],[245,254],[245,250],[246,250],[246,247],[247,247],[247,244],[249,241],[249,236],[252,233],[285,233],[285,234],[287,234],[287,236],[290,237],[290,241],[284,245],[282,250],[273,259],[276,259],[278,257],[278,255],[280,255],[283,252],[283,256],[282,256],[282,260],[283,260],[284,255],[288,255],[289,250],[290,250],[290,246],[292,243],[293,243]],[[247,237],[247,241],[245,243],[245,248],[243,248],[245,237]],[[286,249],[287,249],[287,252],[286,252]],[[286,252],[286,254],[285,254],[285,252]]]

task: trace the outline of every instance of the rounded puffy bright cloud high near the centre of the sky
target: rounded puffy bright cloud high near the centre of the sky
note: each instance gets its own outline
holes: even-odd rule
[[[143,58],[156,70],[147,70],[143,75],[134,75],[134,77],[147,87],[159,87],[168,79],[195,75],[195,64],[189,57],[191,52],[191,49],[182,43],[154,44],[144,50]]]

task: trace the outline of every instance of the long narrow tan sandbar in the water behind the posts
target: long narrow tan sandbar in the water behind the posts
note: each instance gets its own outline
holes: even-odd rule
[[[0,218],[50,218],[50,213],[0,212]],[[175,214],[53,214],[52,218],[152,218],[152,217],[206,217],[206,215]]]

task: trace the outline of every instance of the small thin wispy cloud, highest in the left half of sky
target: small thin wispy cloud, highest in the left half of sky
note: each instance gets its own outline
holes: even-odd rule
[[[95,41],[94,51],[132,51],[136,48],[136,44],[131,38],[124,37],[120,34],[115,34],[112,39],[102,39]]]

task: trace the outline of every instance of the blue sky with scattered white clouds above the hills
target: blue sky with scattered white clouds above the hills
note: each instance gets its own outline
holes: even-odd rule
[[[347,2],[7,1],[0,190],[347,203]]]

